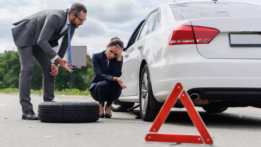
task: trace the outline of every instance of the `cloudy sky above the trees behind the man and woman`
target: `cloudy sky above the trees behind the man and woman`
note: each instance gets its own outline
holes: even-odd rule
[[[16,50],[11,35],[12,23],[41,10],[69,8],[75,1],[0,0],[0,53]],[[126,46],[133,30],[151,10],[161,3],[172,1],[78,0],[85,4],[88,14],[84,25],[76,29],[71,45],[87,46],[88,54],[93,54],[105,50],[111,38],[119,37]]]

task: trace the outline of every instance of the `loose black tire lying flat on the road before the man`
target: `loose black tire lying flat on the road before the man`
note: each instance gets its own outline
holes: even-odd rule
[[[38,105],[38,119],[49,123],[86,123],[99,120],[96,102],[42,102]]]

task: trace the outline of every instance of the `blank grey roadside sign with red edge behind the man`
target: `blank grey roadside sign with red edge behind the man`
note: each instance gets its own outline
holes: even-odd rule
[[[87,66],[87,46],[72,46],[72,65]]]

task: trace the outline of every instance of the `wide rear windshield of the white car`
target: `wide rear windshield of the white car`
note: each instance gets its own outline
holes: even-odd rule
[[[261,17],[261,6],[232,2],[171,4],[176,21],[217,17]]]

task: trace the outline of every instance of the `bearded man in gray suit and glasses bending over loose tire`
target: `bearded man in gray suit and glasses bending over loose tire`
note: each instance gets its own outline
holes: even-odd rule
[[[73,71],[70,41],[75,28],[83,25],[86,17],[86,7],[81,3],[74,3],[69,9],[40,11],[13,24],[15,27],[12,28],[12,35],[21,63],[19,98],[23,112],[22,119],[38,120],[30,97],[34,59],[43,71],[43,100],[52,101],[55,97],[54,76],[58,74],[58,66],[69,72]],[[52,48],[58,46],[60,38],[62,38],[61,45],[56,53]],[[67,48],[69,61],[63,60]],[[69,64],[66,65],[67,63]]]

